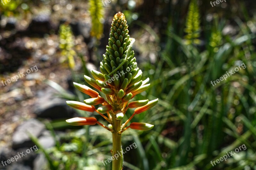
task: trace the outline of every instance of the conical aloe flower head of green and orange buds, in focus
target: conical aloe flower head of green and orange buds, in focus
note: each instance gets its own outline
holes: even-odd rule
[[[84,79],[89,85],[106,95],[106,100],[100,97],[98,92],[86,85],[74,83],[74,86],[79,91],[88,94],[91,98],[84,100],[84,103],[67,101],[67,104],[73,108],[88,112],[98,112],[109,122],[111,128],[109,128],[110,126],[107,127],[97,122],[97,120],[96,123],[118,134],[129,127],[138,130],[152,129],[153,125],[148,123],[131,123],[130,126],[126,128],[125,126],[134,115],[150,109],[158,102],[158,99],[129,102],[136,94],[147,90],[150,86],[150,84],[148,84],[149,78],[146,78],[144,81],[141,80],[142,71],[137,67],[134,51],[132,50],[134,41],[135,40],[129,36],[128,25],[124,14],[118,12],[113,18],[106,53],[103,55],[103,60],[100,62],[101,72],[92,69],[92,77],[84,75]],[[102,106],[95,108],[95,105]],[[130,119],[121,125],[121,121],[128,108],[135,108],[134,113]],[[103,115],[105,113],[108,114],[108,117]],[[87,120],[88,118],[74,118],[74,120],[71,120],[75,121],[75,123],[72,121],[70,123],[70,120],[67,120],[67,122],[73,125],[86,124],[84,119]],[[119,123],[117,123],[118,121]],[[92,124],[93,123],[95,123],[94,119],[92,119]],[[117,125],[119,126],[118,128],[116,127]]]

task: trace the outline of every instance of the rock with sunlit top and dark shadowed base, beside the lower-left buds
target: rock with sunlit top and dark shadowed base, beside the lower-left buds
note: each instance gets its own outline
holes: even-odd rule
[[[66,100],[58,98],[55,93],[56,91],[51,87],[38,92],[34,109],[37,117],[60,119],[73,116],[73,111],[66,104]]]

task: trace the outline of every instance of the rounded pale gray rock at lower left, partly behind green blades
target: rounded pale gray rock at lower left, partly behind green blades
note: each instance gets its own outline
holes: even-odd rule
[[[28,132],[35,137],[39,137],[42,131],[45,129],[43,123],[39,122],[36,119],[30,119],[26,122],[23,122],[17,127],[12,137],[12,148],[17,149],[21,147],[31,147],[34,143],[31,141],[28,136]]]

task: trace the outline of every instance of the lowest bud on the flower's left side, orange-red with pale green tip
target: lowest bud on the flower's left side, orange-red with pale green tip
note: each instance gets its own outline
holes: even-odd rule
[[[75,117],[66,120],[69,125],[79,126],[79,125],[95,125],[97,119],[94,117]]]

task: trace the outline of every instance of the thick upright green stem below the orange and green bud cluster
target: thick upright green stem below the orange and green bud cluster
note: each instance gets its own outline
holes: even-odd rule
[[[116,120],[116,115],[113,119],[113,132],[112,132],[112,139],[113,139],[113,150],[112,156],[115,159],[112,162],[112,170],[121,170],[123,167],[123,151],[121,146],[121,134],[118,134],[118,131],[121,130],[121,120]],[[120,156],[121,155],[121,156]]]

